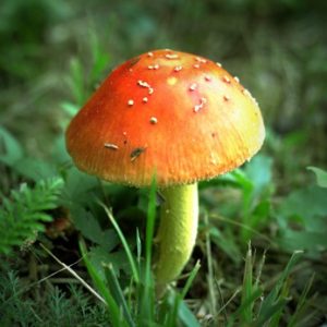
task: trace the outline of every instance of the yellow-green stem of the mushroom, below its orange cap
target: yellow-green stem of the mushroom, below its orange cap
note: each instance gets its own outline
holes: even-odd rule
[[[161,190],[161,206],[157,233],[157,288],[175,279],[187,263],[196,239],[198,221],[197,183]]]

